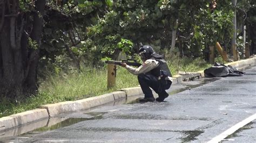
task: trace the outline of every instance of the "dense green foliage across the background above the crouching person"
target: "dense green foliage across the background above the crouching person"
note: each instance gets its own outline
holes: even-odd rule
[[[246,2],[239,1],[238,8],[249,10],[251,4]],[[64,16],[65,25],[59,25],[55,20],[59,16],[49,13],[51,21],[46,21],[46,26],[51,30],[45,31],[49,40],[45,40],[43,47],[58,55],[63,54],[59,49],[66,43],[80,60],[99,61],[105,56],[116,59],[120,52],[136,54],[139,42],[151,45],[156,51],[169,49],[172,31],[177,30],[179,48],[187,56],[198,57],[216,41],[230,47],[234,7],[231,1],[218,1],[217,8],[211,10],[210,3],[208,0],[80,0],[58,6],[50,1],[51,8]],[[121,46],[120,42],[125,42],[122,39],[132,42],[133,48]]]

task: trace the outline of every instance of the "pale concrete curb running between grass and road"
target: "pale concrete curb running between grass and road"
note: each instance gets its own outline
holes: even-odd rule
[[[251,65],[255,65],[256,58],[235,61],[225,64],[231,65],[238,70]],[[190,73],[187,75],[174,75],[173,83],[181,83],[186,78],[191,77],[205,77],[204,70],[198,71],[197,73]],[[30,110],[15,115],[0,118],[0,131],[9,130],[11,128],[21,126],[24,124],[32,123],[38,120],[42,120],[48,117],[57,116],[63,113],[75,112],[79,110],[90,109],[99,105],[117,101],[126,97],[132,97],[136,95],[142,95],[142,89],[140,87],[120,89],[120,91],[104,94],[96,97],[90,97],[81,99],[78,101],[66,101],[55,104],[42,105],[41,109]]]

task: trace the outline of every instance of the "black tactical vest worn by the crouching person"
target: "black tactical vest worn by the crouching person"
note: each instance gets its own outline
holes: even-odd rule
[[[172,77],[171,71],[169,67],[167,66],[167,63],[164,59],[156,59],[156,58],[150,58],[152,60],[158,61],[160,64],[157,66],[157,68],[152,69],[149,71],[150,74],[159,77],[161,75],[160,70],[164,70],[168,76]]]

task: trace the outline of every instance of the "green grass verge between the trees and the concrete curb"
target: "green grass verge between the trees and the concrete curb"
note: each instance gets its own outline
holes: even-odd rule
[[[204,70],[211,65],[203,59],[180,59],[177,56],[166,57],[172,75],[178,71]],[[106,68],[101,70],[86,68],[81,73],[48,75],[39,87],[39,94],[22,102],[9,102],[7,99],[0,101],[0,117],[14,113],[24,112],[39,106],[63,101],[74,101],[117,91],[118,89],[137,87],[137,76],[119,67],[117,70],[116,87],[107,89]]]

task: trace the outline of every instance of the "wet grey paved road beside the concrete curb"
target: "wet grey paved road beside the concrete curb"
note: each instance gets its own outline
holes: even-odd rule
[[[174,94],[162,103],[106,105],[62,115],[59,118],[73,119],[70,121],[76,124],[37,130],[4,141],[207,142],[256,113],[256,67],[247,69],[241,77],[218,79]],[[223,142],[256,142],[255,122]]]

